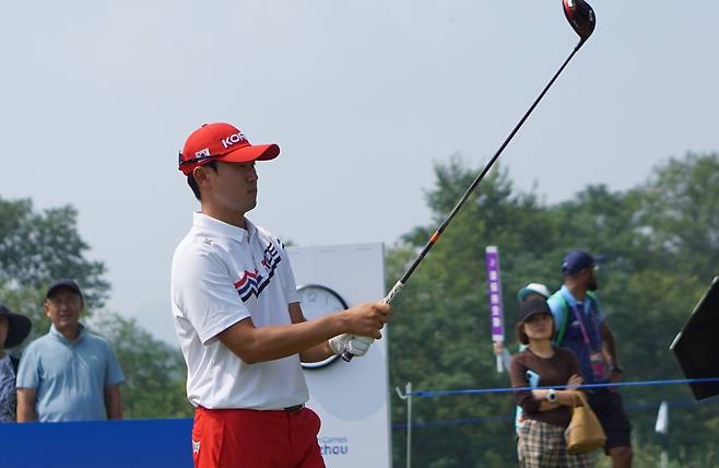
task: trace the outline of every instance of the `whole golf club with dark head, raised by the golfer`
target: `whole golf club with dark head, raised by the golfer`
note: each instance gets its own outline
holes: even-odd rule
[[[474,188],[480,184],[480,182],[484,178],[486,173],[492,168],[492,165],[497,161],[504,149],[509,144],[509,141],[515,137],[519,128],[524,124],[524,120],[529,117],[529,115],[534,110],[534,107],[539,104],[539,102],[544,97],[544,94],[549,91],[549,89],[554,84],[554,81],[556,81],[557,77],[559,77],[559,73],[564,70],[564,68],[569,63],[569,60],[577,54],[577,50],[581,48],[581,46],[587,42],[589,36],[591,36],[592,32],[594,31],[594,24],[596,24],[596,19],[594,19],[594,11],[592,8],[587,3],[585,0],[562,0],[562,7],[564,8],[564,14],[569,21],[569,24],[571,24],[571,27],[574,31],[579,35],[579,43],[577,46],[574,48],[571,54],[569,54],[569,57],[562,63],[562,67],[554,73],[554,77],[550,80],[546,86],[544,86],[544,90],[540,93],[540,95],[537,97],[532,106],[527,110],[524,116],[519,120],[519,124],[511,130],[511,133],[509,133],[509,137],[505,140],[504,143],[502,143],[502,147],[499,147],[499,150],[494,154],[494,156],[490,160],[490,162],[484,166],[484,169],[480,173],[480,175],[472,182],[472,185],[467,189],[464,195],[459,199],[452,211],[449,213],[449,215],[445,219],[445,221],[441,223],[441,225],[435,231],[434,234],[429,237],[429,241],[427,244],[424,246],[417,258],[414,259],[410,268],[404,272],[402,278],[394,284],[394,286],[391,289],[389,294],[387,294],[387,297],[385,297],[384,302],[387,304],[391,304],[392,300],[399,292],[404,288],[404,284],[406,284],[408,280],[414,272],[414,270],[417,268],[417,266],[422,262],[424,259],[425,255],[432,249],[432,247],[435,245],[437,239],[439,239],[439,236],[441,233],[445,231],[447,225],[449,225],[449,222],[455,218],[455,214],[459,211],[459,209],[464,204],[464,201],[469,198],[469,196],[474,191]],[[364,339],[364,338],[363,338]],[[370,340],[369,338],[366,338],[367,340]],[[349,351],[344,351],[342,353],[342,359],[346,362],[350,362],[352,360],[354,354],[352,354]]]

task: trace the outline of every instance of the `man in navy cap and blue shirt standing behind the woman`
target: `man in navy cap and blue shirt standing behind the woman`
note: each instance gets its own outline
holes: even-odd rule
[[[564,257],[564,285],[547,301],[556,325],[555,342],[577,355],[585,384],[616,382],[622,376],[614,335],[610,330],[594,291],[596,271],[603,257],[571,250]],[[589,390],[589,405],[606,433],[604,451],[612,465],[632,466],[632,425],[622,396],[615,389]]]

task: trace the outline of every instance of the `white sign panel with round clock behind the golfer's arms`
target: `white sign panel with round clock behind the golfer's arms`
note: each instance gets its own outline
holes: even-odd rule
[[[343,308],[341,301],[353,306],[385,297],[382,244],[287,250],[308,319]],[[322,420],[318,442],[325,463],[328,468],[389,467],[387,341],[375,341],[367,355],[352,362],[328,361],[305,367],[307,405]]]

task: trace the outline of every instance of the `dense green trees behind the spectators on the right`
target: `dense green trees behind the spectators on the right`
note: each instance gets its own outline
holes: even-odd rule
[[[475,174],[458,156],[436,166],[436,185],[426,194],[433,225],[415,227],[389,250],[388,288]],[[507,374],[495,371],[490,340],[484,274],[487,245],[499,246],[506,339],[512,351],[516,292],[528,282],[558,288],[562,257],[569,249],[585,248],[610,256],[600,270],[599,295],[627,379],[681,378],[668,348],[718,273],[717,208],[717,154],[673,159],[632,190],[589,186],[573,200],[555,206],[541,204],[534,194],[518,192],[506,171],[493,171],[394,302],[389,342],[391,385],[403,388],[412,382],[415,389],[508,385]],[[662,386],[627,388],[623,394],[628,408],[645,409],[629,412],[637,466],[655,465],[659,454],[653,433],[656,409],[661,400],[691,400],[691,393],[686,386]],[[414,401],[416,423],[514,412],[508,394]],[[716,406],[710,403],[672,410],[672,463],[716,463],[711,443],[719,436],[716,414]],[[393,401],[392,420],[405,422],[399,400]],[[397,466],[404,463],[403,438],[403,432],[394,432]],[[415,467],[511,466],[516,458],[511,421],[417,428],[413,438]]]

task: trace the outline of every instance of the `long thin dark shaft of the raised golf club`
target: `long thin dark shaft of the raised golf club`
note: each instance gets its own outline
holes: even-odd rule
[[[519,129],[521,128],[521,126],[524,124],[524,120],[527,120],[527,118],[530,116],[530,114],[532,113],[532,110],[534,110],[534,107],[537,107],[537,105],[540,103],[540,101],[542,101],[542,97],[544,97],[544,94],[546,94],[546,92],[550,90],[550,87],[552,87],[552,84],[554,84],[554,82],[555,82],[556,79],[559,77],[559,74],[562,73],[562,71],[565,69],[565,67],[567,66],[567,63],[569,63],[569,60],[571,60],[571,58],[575,56],[575,54],[577,54],[577,50],[579,50],[579,48],[581,48],[581,46],[584,45],[584,43],[585,43],[585,39],[580,40],[579,44],[577,44],[577,46],[574,48],[574,50],[571,51],[571,54],[569,54],[569,57],[567,57],[567,59],[564,61],[564,63],[562,63],[562,67],[559,67],[559,69],[556,71],[556,73],[554,73],[554,77],[552,77],[552,79],[551,79],[550,82],[546,84],[546,86],[544,86],[544,90],[542,90],[542,92],[541,92],[540,95],[537,97],[537,100],[534,100],[534,103],[532,103],[532,105],[531,105],[531,107],[529,108],[529,110],[527,110],[527,113],[526,113],[524,116],[521,118],[521,120],[519,120],[519,124],[517,124],[517,125],[515,126],[515,128],[511,130],[511,133],[509,133],[509,137],[507,137],[507,139],[504,141],[504,143],[502,143],[502,147],[499,147],[499,149],[498,149],[497,152],[494,154],[494,156],[493,156],[493,157],[490,160],[490,162],[484,166],[484,168],[482,169],[482,172],[480,173],[480,175],[476,176],[476,178],[474,179],[474,182],[472,182],[472,185],[470,185],[469,188],[467,189],[467,191],[464,191],[464,195],[462,195],[462,197],[459,199],[459,201],[457,202],[457,204],[455,204],[455,208],[453,208],[452,211],[449,213],[449,215],[445,219],[445,221],[443,221],[443,223],[439,225],[439,227],[437,227],[437,230],[435,231],[435,233],[432,234],[432,236],[429,237],[429,241],[427,241],[427,244],[424,246],[424,248],[422,249],[422,251],[420,253],[420,255],[417,256],[417,258],[414,259],[414,261],[412,262],[412,265],[410,266],[410,268],[408,268],[408,270],[404,272],[404,274],[402,276],[402,278],[400,278],[400,280],[397,282],[397,284],[394,284],[394,286],[392,288],[392,290],[389,292],[389,294],[387,294],[387,297],[385,297],[385,300],[384,300],[385,303],[387,303],[387,304],[391,304],[391,303],[392,303],[392,300],[394,299],[394,296],[397,296],[397,294],[400,292],[400,290],[401,290],[402,288],[404,288],[404,284],[406,284],[406,282],[409,281],[410,277],[412,276],[412,273],[414,272],[414,270],[420,266],[420,264],[422,262],[422,260],[424,259],[424,257],[427,255],[427,253],[432,249],[432,247],[434,247],[435,243],[439,239],[439,236],[441,236],[441,233],[443,233],[443,232],[445,231],[445,229],[449,225],[449,223],[450,223],[450,221],[452,220],[452,218],[455,218],[455,215],[456,215],[457,212],[460,210],[460,208],[462,208],[462,204],[464,204],[464,202],[465,202],[467,199],[470,197],[470,195],[472,195],[472,192],[474,191],[474,189],[476,188],[476,186],[480,184],[480,182],[482,182],[482,179],[484,178],[484,176],[486,175],[486,173],[490,172],[490,169],[492,168],[492,166],[494,165],[494,163],[497,161],[497,159],[499,159],[499,155],[502,154],[502,152],[504,151],[504,149],[507,148],[507,144],[509,144],[509,142],[511,141],[511,139],[515,138],[515,134],[517,134],[517,131],[519,131]],[[342,359],[343,359],[344,361],[346,361],[346,362],[352,361],[352,358],[353,358],[353,356],[354,356],[354,354],[352,354],[352,353],[349,352],[349,351],[344,351],[344,352],[342,353]]]

